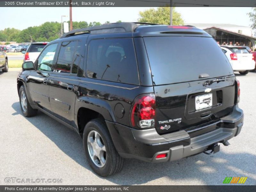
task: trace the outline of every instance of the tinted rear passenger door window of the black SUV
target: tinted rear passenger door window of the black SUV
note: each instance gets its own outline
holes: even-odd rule
[[[62,42],[57,60],[56,72],[70,73],[77,41]]]

